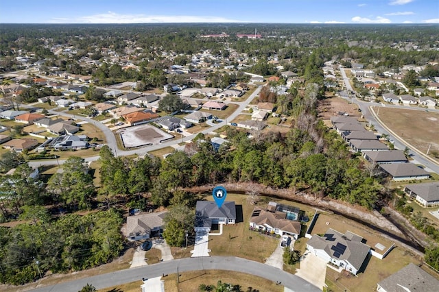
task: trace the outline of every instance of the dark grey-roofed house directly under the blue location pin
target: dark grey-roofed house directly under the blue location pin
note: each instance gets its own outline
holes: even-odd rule
[[[195,206],[195,231],[211,231],[212,224],[235,224],[235,202],[226,201],[218,208],[213,201],[197,201]]]

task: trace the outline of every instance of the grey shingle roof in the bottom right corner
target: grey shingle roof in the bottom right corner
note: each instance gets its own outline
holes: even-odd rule
[[[377,291],[405,292],[423,291],[436,292],[439,280],[420,267],[410,263],[378,283]]]

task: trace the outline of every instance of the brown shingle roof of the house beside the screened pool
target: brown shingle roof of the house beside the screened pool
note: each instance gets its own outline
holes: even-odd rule
[[[268,225],[272,228],[278,228],[280,230],[300,234],[300,222],[286,219],[287,213],[285,212],[270,212],[261,208],[254,208],[250,222],[257,225]]]

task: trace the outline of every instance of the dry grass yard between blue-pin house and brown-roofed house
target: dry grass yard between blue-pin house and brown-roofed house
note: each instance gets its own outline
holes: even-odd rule
[[[209,195],[205,199],[213,200],[213,197]],[[227,201],[235,201],[237,210],[241,206],[244,222],[224,226],[220,236],[209,236],[211,256],[239,256],[263,263],[276,249],[278,239],[249,230],[248,220],[254,206],[248,202],[246,195],[228,194]]]

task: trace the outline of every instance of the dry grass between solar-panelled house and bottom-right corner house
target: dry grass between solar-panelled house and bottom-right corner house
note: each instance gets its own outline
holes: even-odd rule
[[[358,273],[357,276],[350,273],[337,273],[328,268],[326,284],[331,291],[375,291],[378,282],[409,263],[418,265],[420,262],[407,250],[396,247],[382,260],[370,256],[366,270],[364,273]]]

